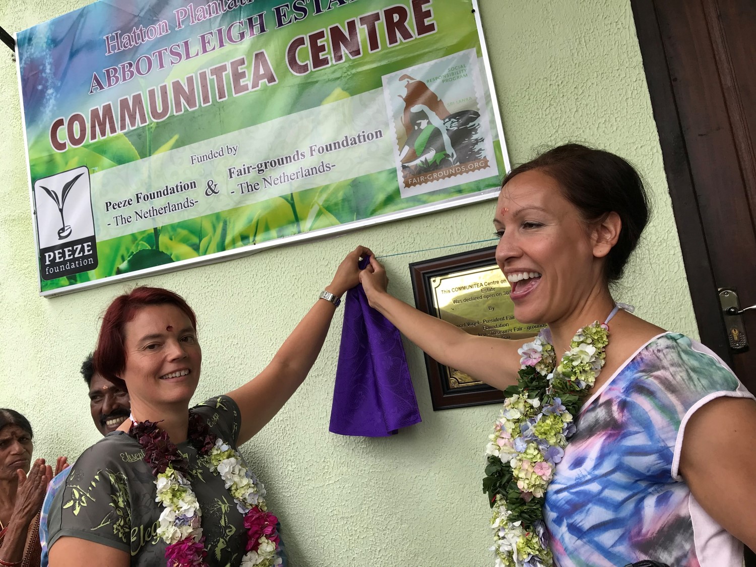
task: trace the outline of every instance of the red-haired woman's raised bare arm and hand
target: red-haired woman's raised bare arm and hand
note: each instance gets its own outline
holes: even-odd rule
[[[372,253],[358,246],[341,262],[326,291],[341,297],[359,283],[359,260]],[[336,307],[318,299],[258,376],[228,392],[241,411],[237,445],[249,441],[304,382],[325,341]]]

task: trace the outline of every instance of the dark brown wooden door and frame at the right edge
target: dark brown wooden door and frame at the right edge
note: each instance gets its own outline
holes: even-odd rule
[[[701,339],[756,392],[756,310],[733,351],[717,294],[756,304],[756,2],[631,5]]]

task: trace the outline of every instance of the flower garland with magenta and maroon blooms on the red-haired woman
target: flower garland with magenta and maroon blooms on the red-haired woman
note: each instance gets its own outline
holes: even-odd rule
[[[137,423],[132,417],[129,435],[144,448],[144,461],[155,476],[155,501],[163,504],[157,534],[166,542],[166,567],[207,567],[205,538],[200,527],[202,510],[187,480],[189,463],[157,423]],[[274,567],[280,538],[278,519],[265,505],[265,487],[244,466],[238,451],[209,431],[205,420],[189,413],[189,442],[204,457],[209,469],[220,475],[244,515],[246,554],[241,567]]]

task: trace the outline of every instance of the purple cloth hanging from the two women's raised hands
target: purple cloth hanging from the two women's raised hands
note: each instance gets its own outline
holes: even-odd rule
[[[420,423],[420,411],[401,334],[368,305],[358,285],[346,294],[329,429],[386,437],[415,423]]]

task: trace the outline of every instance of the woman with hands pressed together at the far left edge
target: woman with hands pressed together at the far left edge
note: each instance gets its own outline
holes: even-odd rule
[[[32,464],[32,438],[26,417],[0,409],[0,565],[39,565],[39,510],[52,470],[44,459]]]

